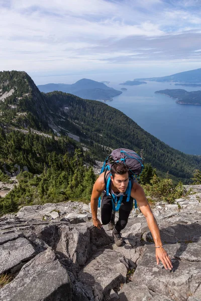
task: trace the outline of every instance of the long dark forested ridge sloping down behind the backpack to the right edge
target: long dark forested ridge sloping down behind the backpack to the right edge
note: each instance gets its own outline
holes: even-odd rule
[[[77,130],[83,132],[82,141],[88,147],[92,141],[96,141],[112,148],[135,149],[138,153],[144,149],[147,163],[183,181],[190,179],[193,169],[201,167],[201,157],[186,155],[169,147],[124,113],[105,103],[84,100],[62,92],[47,93],[46,101],[54,111],[57,110],[58,116],[62,116],[57,118],[58,124],[63,128],[69,123],[77,126]]]

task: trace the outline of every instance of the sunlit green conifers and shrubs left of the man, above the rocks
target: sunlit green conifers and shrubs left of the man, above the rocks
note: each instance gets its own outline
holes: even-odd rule
[[[55,153],[53,153],[55,154]],[[41,175],[29,172],[18,176],[19,185],[0,199],[2,214],[15,212],[19,206],[57,203],[71,200],[89,201],[95,175],[91,167],[83,166],[83,155],[75,149],[69,157],[54,155],[51,166],[44,165]]]

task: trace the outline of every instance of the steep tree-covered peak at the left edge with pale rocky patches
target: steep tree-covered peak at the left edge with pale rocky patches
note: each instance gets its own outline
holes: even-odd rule
[[[0,121],[3,124],[47,130],[47,111],[44,96],[26,72],[0,72]]]

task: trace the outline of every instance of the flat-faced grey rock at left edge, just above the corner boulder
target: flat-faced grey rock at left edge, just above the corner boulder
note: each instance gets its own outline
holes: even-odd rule
[[[14,273],[35,255],[34,247],[26,238],[19,237],[2,244],[0,246],[0,274],[8,271]]]

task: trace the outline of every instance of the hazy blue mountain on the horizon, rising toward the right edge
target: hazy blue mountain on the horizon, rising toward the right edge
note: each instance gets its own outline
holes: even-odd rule
[[[201,83],[201,68],[162,77],[136,78],[136,80],[175,83]]]

